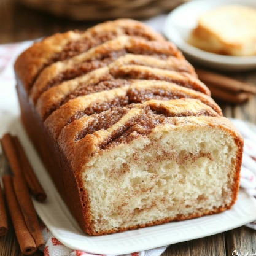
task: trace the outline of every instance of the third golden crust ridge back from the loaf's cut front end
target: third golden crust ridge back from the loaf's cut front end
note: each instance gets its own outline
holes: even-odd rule
[[[136,58],[137,55],[134,56],[134,59]],[[147,65],[147,63],[144,64]],[[166,63],[166,68],[168,68],[168,62]],[[134,64],[118,65],[118,63],[114,62],[109,67],[96,69],[83,76],[48,88],[38,99],[36,107],[42,119],[45,120],[48,115],[69,99],[122,87],[125,84],[128,85],[128,81],[131,79],[165,80],[166,82],[176,83],[210,95],[209,89],[200,80],[186,72],[169,71]]]

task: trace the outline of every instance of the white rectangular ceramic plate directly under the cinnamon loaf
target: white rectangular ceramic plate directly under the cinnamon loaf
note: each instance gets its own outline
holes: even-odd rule
[[[20,137],[31,165],[48,196],[44,203],[34,201],[37,214],[53,236],[71,249],[83,250],[93,254],[128,254],[214,235],[256,219],[256,199],[241,190],[235,206],[221,214],[182,222],[170,222],[112,235],[85,235],[53,185],[20,120],[15,119],[14,123],[10,124],[10,128],[12,133],[16,133]]]

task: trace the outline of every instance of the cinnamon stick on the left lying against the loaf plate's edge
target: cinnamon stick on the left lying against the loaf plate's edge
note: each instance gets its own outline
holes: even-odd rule
[[[33,168],[31,167],[29,160],[26,157],[26,153],[17,136],[13,137],[13,142],[15,149],[17,150],[20,166],[25,176],[29,190],[36,197],[36,200],[44,201],[47,197],[46,193],[44,192],[44,188],[42,188],[39,180],[37,179],[36,174],[34,173]]]

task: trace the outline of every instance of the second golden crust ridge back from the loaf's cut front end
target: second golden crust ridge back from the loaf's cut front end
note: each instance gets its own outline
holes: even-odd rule
[[[163,92],[165,92],[166,95],[161,95]],[[131,82],[130,86],[126,85],[125,87],[120,87],[114,90],[102,91],[71,99],[45,120],[45,126],[50,133],[52,133],[53,138],[58,138],[60,131],[64,126],[68,125],[68,121],[72,116],[77,115],[80,112],[84,112],[85,109],[90,107],[92,104],[111,103],[114,99],[118,98],[120,98],[120,100],[127,98],[127,103],[142,103],[150,98],[197,98],[204,104],[211,106],[215,111],[222,115],[220,107],[214,102],[214,100],[198,91],[163,81],[134,80]]]

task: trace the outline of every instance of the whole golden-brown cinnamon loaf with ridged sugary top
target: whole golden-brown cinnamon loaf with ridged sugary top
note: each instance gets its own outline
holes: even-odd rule
[[[133,20],[55,34],[15,63],[21,118],[89,235],[230,209],[243,139],[171,42]]]

